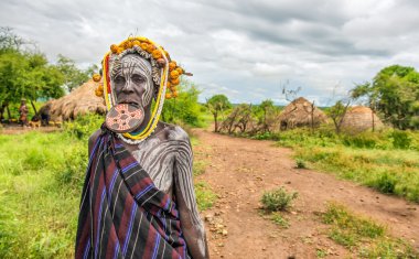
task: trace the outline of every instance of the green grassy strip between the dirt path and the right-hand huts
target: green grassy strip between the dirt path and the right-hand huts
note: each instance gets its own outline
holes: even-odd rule
[[[313,168],[352,180],[383,193],[419,202],[419,132],[387,130],[336,136],[308,129],[275,137],[296,151],[298,168]]]

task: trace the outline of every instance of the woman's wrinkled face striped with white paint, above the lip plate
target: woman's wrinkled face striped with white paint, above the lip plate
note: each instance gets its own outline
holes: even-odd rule
[[[133,102],[142,108],[151,105],[153,82],[151,64],[138,54],[116,61],[110,73],[116,102]]]

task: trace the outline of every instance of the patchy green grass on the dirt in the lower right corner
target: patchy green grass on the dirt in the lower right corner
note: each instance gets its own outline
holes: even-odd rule
[[[385,226],[357,216],[340,204],[330,203],[322,214],[330,225],[329,237],[362,258],[417,258],[418,251],[406,241],[387,234]]]

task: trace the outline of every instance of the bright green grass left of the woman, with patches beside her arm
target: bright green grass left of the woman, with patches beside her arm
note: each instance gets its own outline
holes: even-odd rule
[[[62,132],[0,134],[0,258],[74,257],[87,138],[100,122],[90,116]],[[194,174],[204,166],[197,161]],[[211,188],[195,188],[200,209],[211,207]]]

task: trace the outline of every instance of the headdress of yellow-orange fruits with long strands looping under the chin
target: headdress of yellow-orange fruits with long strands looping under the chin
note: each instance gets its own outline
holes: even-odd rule
[[[175,61],[170,58],[169,53],[162,46],[147,37],[130,36],[119,44],[112,44],[110,51],[104,56],[101,75],[95,74],[93,76],[95,82],[101,82],[96,89],[96,95],[105,98],[108,110],[116,105],[116,97],[114,95],[109,73],[112,71],[112,66],[127,54],[139,54],[150,62],[152,67],[152,80],[154,89],[157,90],[151,119],[144,130],[136,133],[118,134],[126,142],[139,143],[155,129],[164,99],[178,97],[176,86],[180,84],[180,76],[184,74],[184,71],[178,66]]]

